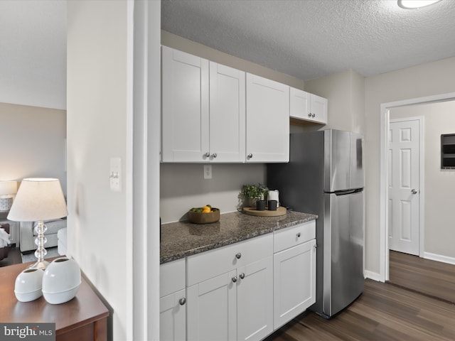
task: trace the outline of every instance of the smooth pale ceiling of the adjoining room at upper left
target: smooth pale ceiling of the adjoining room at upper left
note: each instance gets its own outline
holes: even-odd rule
[[[0,102],[66,109],[66,2],[1,1]]]

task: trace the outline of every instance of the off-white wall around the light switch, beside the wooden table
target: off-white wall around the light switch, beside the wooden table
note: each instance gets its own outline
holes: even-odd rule
[[[68,1],[68,253],[112,307],[114,340],[132,335],[128,25],[125,0]],[[112,157],[120,192],[109,189]]]

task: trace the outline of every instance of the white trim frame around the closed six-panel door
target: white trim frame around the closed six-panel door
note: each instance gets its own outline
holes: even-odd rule
[[[396,109],[396,108],[390,108]],[[390,110],[389,110],[390,114]],[[395,122],[405,122],[405,121],[419,121],[419,257],[424,256],[424,207],[425,207],[425,118],[423,116],[417,117],[402,117],[399,119],[389,119],[389,127],[390,123]],[[387,134],[390,129],[387,129]],[[387,144],[388,144],[388,136],[387,136]],[[387,164],[388,169],[388,164]],[[387,179],[388,180],[388,179]],[[388,201],[388,193],[387,193],[387,201]],[[387,206],[388,207],[388,206]],[[388,212],[387,212],[388,213]],[[387,215],[388,218],[388,215]],[[389,231],[389,220],[387,219],[387,232]],[[387,249],[388,249],[388,235],[387,235]]]

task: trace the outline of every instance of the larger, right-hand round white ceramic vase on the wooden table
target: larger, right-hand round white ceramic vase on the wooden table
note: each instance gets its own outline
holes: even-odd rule
[[[50,304],[68,302],[76,296],[80,283],[80,268],[74,259],[54,259],[44,271],[44,299]]]

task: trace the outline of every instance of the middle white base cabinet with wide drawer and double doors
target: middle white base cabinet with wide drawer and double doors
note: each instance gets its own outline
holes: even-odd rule
[[[272,249],[268,234],[188,257],[188,340],[262,340],[273,331]],[[217,264],[231,269],[213,276]]]

